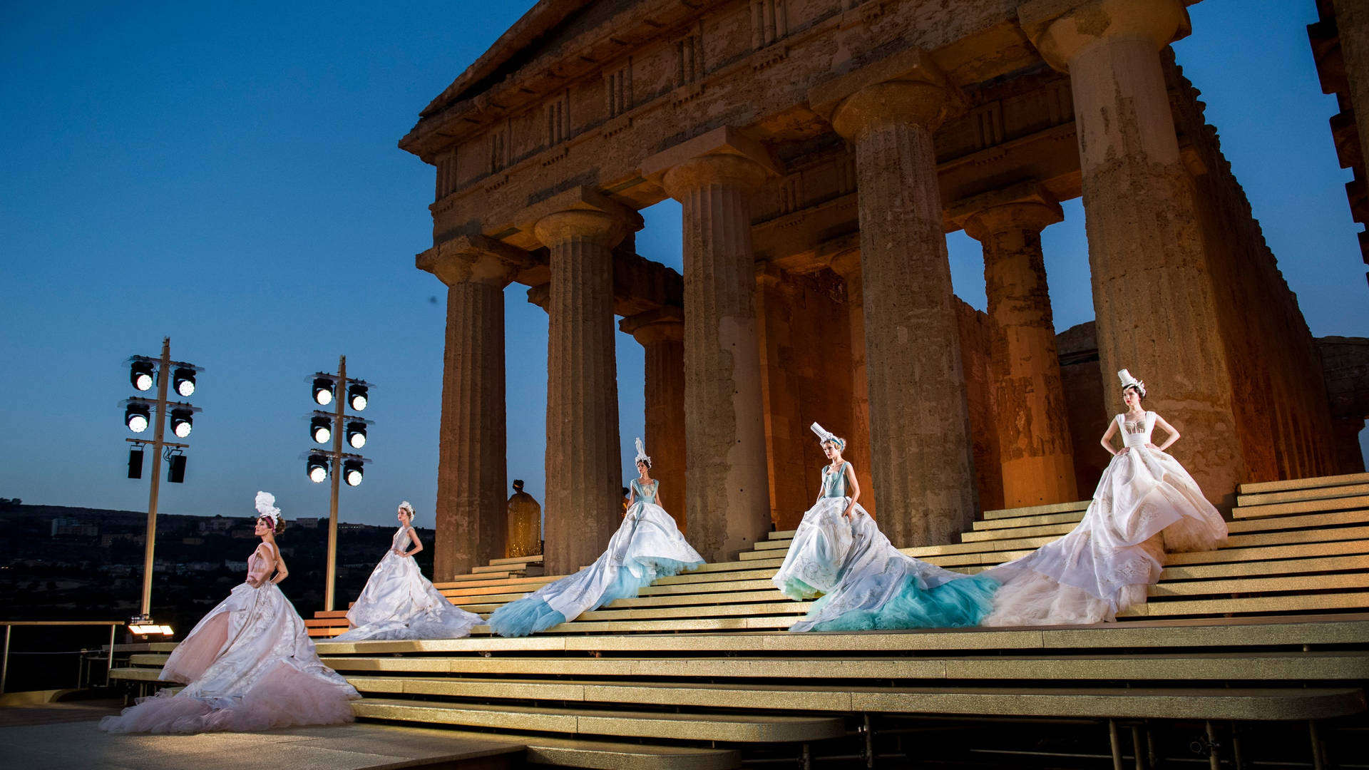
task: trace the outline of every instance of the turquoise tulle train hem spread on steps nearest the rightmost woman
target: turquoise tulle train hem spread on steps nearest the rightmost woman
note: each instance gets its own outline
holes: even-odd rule
[[[1001,584],[988,575],[973,575],[920,589],[904,582],[893,599],[876,610],[852,610],[813,626],[816,632],[864,632],[873,629],[956,629],[977,626],[994,608],[994,592]],[[831,595],[828,595],[831,596]],[[813,603],[817,614],[828,596]]]

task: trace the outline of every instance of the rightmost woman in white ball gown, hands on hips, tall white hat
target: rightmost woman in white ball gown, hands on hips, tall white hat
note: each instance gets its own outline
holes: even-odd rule
[[[1160,580],[1166,552],[1212,551],[1227,543],[1227,522],[1212,507],[1179,460],[1165,454],[1179,432],[1140,408],[1144,382],[1117,373],[1127,412],[1101,440],[1113,454],[1094,499],[1069,534],[986,574],[1003,586],[994,597],[988,626],[1075,625],[1117,619],[1146,601]],[[1150,441],[1155,426],[1168,433]],[[1123,448],[1112,437],[1121,433]]]

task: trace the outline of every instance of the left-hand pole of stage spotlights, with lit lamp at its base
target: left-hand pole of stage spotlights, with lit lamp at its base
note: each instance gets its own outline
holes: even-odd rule
[[[137,615],[129,619],[129,630],[138,636],[170,636],[171,626],[152,622],[152,552],[157,538],[157,495],[162,490],[162,460],[167,460],[167,481],[185,481],[185,449],[189,444],[166,441],[167,423],[178,438],[190,434],[194,414],[199,407],[186,401],[168,401],[167,389],[174,388],[182,399],[194,393],[194,377],[204,371],[193,363],[171,360],[171,337],[162,338],[162,358],[133,356],[129,359],[129,384],[137,390],[151,390],[157,386],[156,399],[134,396],[123,401],[123,423],[134,433],[142,433],[149,426],[152,440],[125,438],[133,444],[129,449],[129,478],[142,478],[142,449],[152,448],[152,489],[148,492],[148,534],[142,548],[142,604]],[[156,417],[153,417],[156,415]],[[153,422],[155,421],[155,422]]]

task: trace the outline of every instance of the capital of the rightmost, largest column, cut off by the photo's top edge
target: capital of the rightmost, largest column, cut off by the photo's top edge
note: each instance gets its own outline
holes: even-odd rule
[[[1192,32],[1183,0],[1031,0],[1017,7],[1017,22],[1061,73],[1102,40],[1149,40],[1160,51]]]

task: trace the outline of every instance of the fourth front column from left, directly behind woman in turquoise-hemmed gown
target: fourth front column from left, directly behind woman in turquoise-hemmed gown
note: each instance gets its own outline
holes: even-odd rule
[[[808,95],[856,144],[873,486],[898,547],[950,543],[977,499],[932,151],[950,96],[916,49]]]

